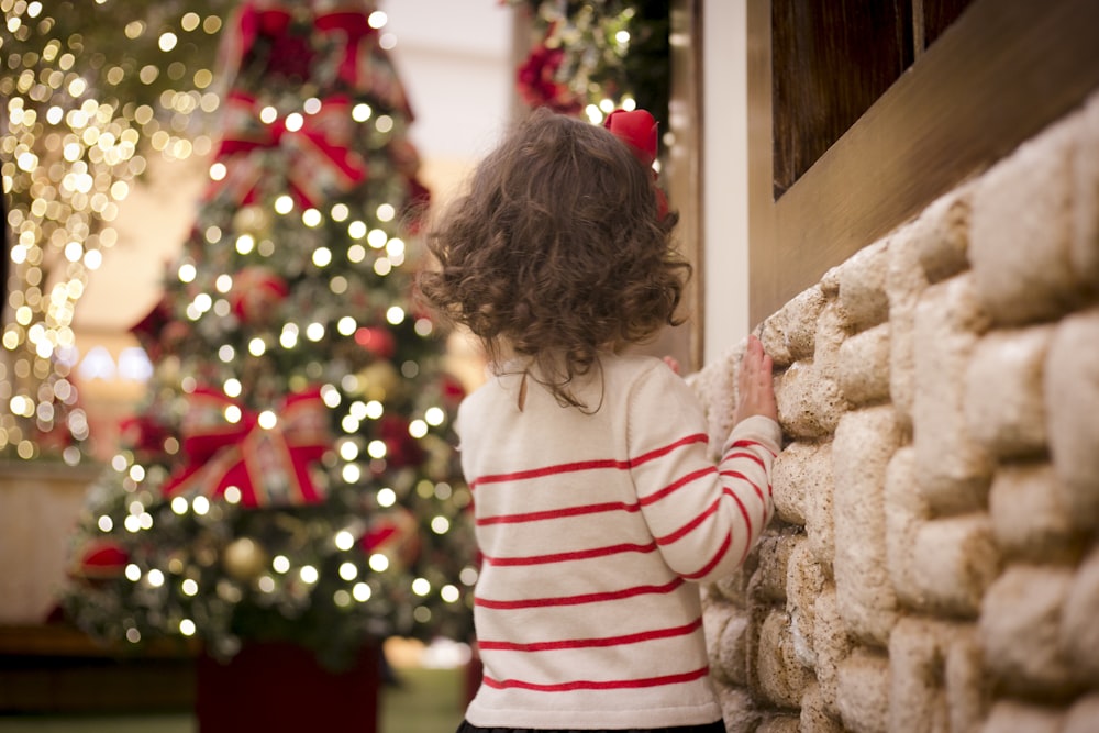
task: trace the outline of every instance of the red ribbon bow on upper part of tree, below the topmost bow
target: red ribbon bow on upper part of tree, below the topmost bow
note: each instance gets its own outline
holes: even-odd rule
[[[207,199],[227,191],[238,203],[252,203],[258,198],[256,188],[269,166],[252,153],[259,148],[281,147],[287,151],[289,165],[286,177],[298,200],[307,207],[317,206],[328,196],[346,192],[366,179],[363,158],[349,148],[355,134],[351,116],[351,100],[345,96],[329,97],[315,114],[303,114],[301,126],[287,127],[286,119],[270,124],[259,119],[256,98],[243,91],[232,91],[225,99],[225,134],[218,148],[218,160],[227,173],[211,182]]]

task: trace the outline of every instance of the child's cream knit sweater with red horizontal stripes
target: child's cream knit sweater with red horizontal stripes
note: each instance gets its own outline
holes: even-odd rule
[[[593,414],[521,375],[458,414],[482,566],[474,619],[482,728],[717,721],[697,582],[735,570],[773,513],[778,425],[737,425],[718,466],[702,409],[663,362],[604,356]],[[580,395],[599,403],[598,380]]]

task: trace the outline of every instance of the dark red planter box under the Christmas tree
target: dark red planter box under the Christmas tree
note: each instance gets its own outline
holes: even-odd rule
[[[356,665],[340,673],[293,644],[246,644],[227,664],[202,655],[199,733],[377,733],[380,654],[377,646],[364,647]]]

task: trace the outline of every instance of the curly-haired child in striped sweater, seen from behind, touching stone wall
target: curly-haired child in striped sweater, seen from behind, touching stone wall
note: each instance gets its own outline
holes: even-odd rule
[[[534,112],[429,237],[421,292],[493,367],[456,425],[485,669],[460,732],[724,731],[696,584],[735,570],[771,517],[771,362],[751,338],[714,466],[690,388],[624,352],[675,322],[688,266],[652,116],[610,122],[625,140]]]

